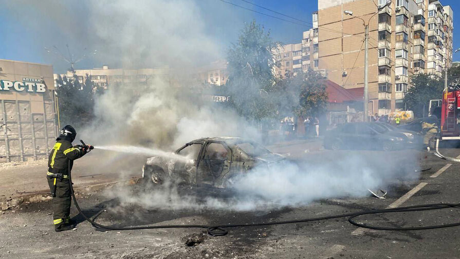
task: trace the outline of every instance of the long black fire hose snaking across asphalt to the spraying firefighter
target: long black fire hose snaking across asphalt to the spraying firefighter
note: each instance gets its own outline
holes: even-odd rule
[[[218,224],[218,225],[156,225],[156,226],[130,226],[130,227],[113,227],[105,226],[95,222],[96,217],[99,216],[104,210],[99,211],[93,219],[86,216],[85,213],[80,208],[77,198],[75,197],[75,191],[72,186],[72,176],[70,171],[70,161],[68,163],[68,172],[69,172],[69,186],[70,194],[72,196],[73,202],[78,212],[85,218],[86,221],[91,223],[93,227],[105,230],[141,230],[141,229],[165,229],[165,228],[202,228],[206,229],[209,235],[213,236],[224,236],[228,234],[228,228],[240,228],[240,227],[257,227],[257,226],[272,226],[272,225],[284,225],[284,224],[296,224],[296,223],[306,223],[314,221],[323,221],[323,220],[332,220],[334,218],[348,217],[348,222],[362,228],[375,229],[375,230],[426,230],[426,229],[438,229],[438,228],[447,228],[447,227],[456,227],[460,226],[460,222],[445,224],[445,225],[433,225],[433,226],[422,226],[422,227],[381,227],[381,226],[372,226],[364,223],[359,223],[357,217],[362,215],[369,214],[381,214],[381,213],[395,213],[395,212],[411,212],[411,211],[425,211],[425,210],[439,210],[439,209],[448,209],[455,208],[460,209],[460,203],[436,203],[436,204],[426,204],[426,205],[416,205],[416,206],[406,206],[399,208],[388,208],[380,210],[362,210],[354,213],[338,214],[338,215],[329,215],[323,217],[314,217],[314,218],[303,218],[300,220],[291,220],[291,221],[276,221],[276,222],[261,222],[261,223],[245,223],[245,224]]]

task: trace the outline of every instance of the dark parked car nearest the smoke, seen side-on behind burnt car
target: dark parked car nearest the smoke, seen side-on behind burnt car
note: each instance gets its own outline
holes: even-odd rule
[[[380,149],[390,151],[406,144],[403,133],[388,130],[377,123],[346,123],[326,133],[327,149]]]

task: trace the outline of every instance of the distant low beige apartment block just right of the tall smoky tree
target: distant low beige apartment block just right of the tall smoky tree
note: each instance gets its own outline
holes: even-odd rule
[[[275,61],[279,63],[275,67],[275,76],[285,77],[302,71],[302,44],[286,44],[278,48]]]

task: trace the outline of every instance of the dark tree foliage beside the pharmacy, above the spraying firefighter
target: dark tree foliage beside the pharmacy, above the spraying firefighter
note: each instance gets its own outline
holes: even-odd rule
[[[88,125],[94,118],[95,95],[101,89],[94,85],[88,75],[83,84],[75,74],[73,77],[59,76],[56,83],[61,124]]]

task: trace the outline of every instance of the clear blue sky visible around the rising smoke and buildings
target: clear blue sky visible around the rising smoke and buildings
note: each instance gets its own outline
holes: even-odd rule
[[[85,52],[84,48],[90,48],[98,41],[92,36],[91,26],[87,24],[87,9],[91,4],[75,4],[75,2],[63,1],[61,7],[56,6],[56,0],[27,1],[17,0],[11,4],[8,0],[0,0],[0,58],[19,61],[52,64],[57,72],[64,72],[68,65],[58,57],[46,53],[44,47],[57,45],[62,51],[65,44],[69,44],[75,56]],[[161,0],[160,0],[161,1]],[[193,0],[183,0],[194,2]],[[225,0],[243,7],[254,9],[273,16],[289,19],[279,14],[269,12],[259,7],[252,6],[242,0]],[[311,13],[317,10],[317,0],[292,0],[292,1],[268,1],[248,0],[257,5],[276,10],[280,13],[296,17],[311,23]],[[371,1],[371,0],[369,0]],[[4,3],[2,3],[4,2]],[[30,5],[30,3],[34,5]],[[38,4],[40,3],[40,4]],[[46,3],[46,4],[42,4]],[[62,2],[61,2],[62,3]],[[460,36],[460,18],[456,19],[456,12],[460,14],[460,1],[441,0],[443,5],[450,5],[454,11],[454,49],[460,48],[460,42],[456,39]],[[204,30],[215,41],[222,45],[222,49],[228,48],[231,42],[237,40],[238,32],[244,23],[255,19],[257,23],[269,29],[275,41],[282,43],[298,43],[301,41],[302,32],[310,28],[309,25],[297,25],[262,14],[244,10],[219,0],[196,0],[195,5],[199,11],[199,18],[205,24]],[[56,6],[56,9],[54,9]],[[59,8],[68,9],[66,12],[57,13]],[[68,15],[68,17],[66,17]],[[30,19],[25,19],[30,17]],[[56,22],[60,21],[60,22]],[[458,30],[456,30],[458,28]],[[75,32],[75,33],[74,33]],[[87,33],[88,35],[85,35]],[[73,34],[73,35],[72,35]],[[77,34],[77,36],[75,35]],[[102,45],[104,46],[104,45]],[[116,55],[116,54],[114,54]],[[222,55],[225,55],[223,51]],[[88,58],[79,63],[77,68],[101,67],[108,56]],[[454,61],[460,61],[460,52],[454,54]],[[117,66],[117,64],[111,64]]]

